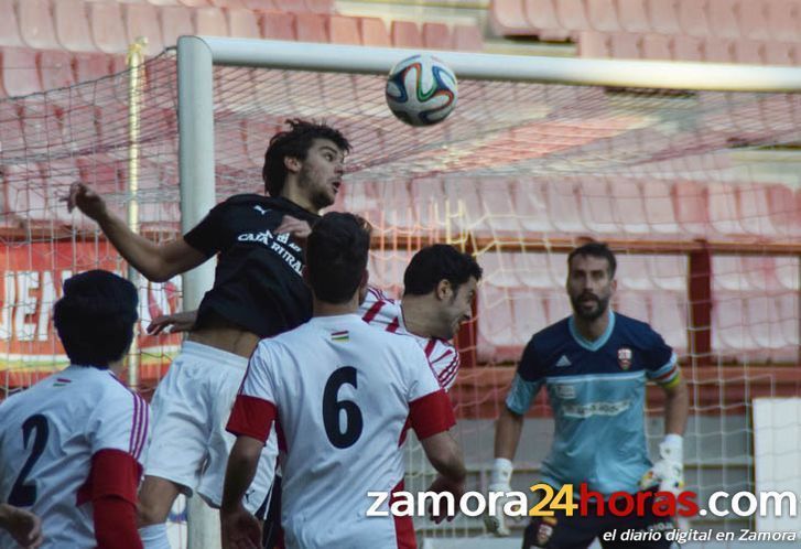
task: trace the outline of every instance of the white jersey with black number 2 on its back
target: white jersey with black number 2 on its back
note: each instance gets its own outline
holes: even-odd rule
[[[45,548],[95,547],[86,481],[91,456],[121,450],[137,461],[148,403],[106,369],[69,366],[0,403],[0,502],[42,518]],[[0,530],[0,547],[17,547]]]

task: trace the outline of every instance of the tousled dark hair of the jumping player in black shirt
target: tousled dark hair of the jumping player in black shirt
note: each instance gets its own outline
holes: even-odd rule
[[[300,118],[286,120],[289,131],[279,131],[272,139],[264,153],[264,166],[261,169],[261,179],[264,190],[270,196],[279,196],[286,181],[285,158],[305,160],[309,149],[315,139],[328,139],[343,152],[350,151],[350,143],[339,130],[324,123],[310,122]]]

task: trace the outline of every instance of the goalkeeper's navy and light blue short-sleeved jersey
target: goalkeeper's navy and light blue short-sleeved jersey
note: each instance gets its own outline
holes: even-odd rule
[[[573,317],[534,334],[526,346],[506,399],[515,413],[528,411],[540,387],[553,409],[553,446],[542,481],[559,488],[635,493],[651,466],[645,434],[646,380],[670,386],[679,379],[675,354],[645,322],[609,312],[595,342],[583,338]]]

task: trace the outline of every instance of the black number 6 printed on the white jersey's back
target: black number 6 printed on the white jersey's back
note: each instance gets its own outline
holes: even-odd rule
[[[323,423],[328,440],[338,449],[353,446],[359,437],[364,421],[361,410],[353,400],[339,400],[339,388],[345,385],[356,385],[356,368],[343,366],[334,370],[325,384],[323,392]],[[342,430],[339,421],[340,412],[345,412],[345,431]]]

